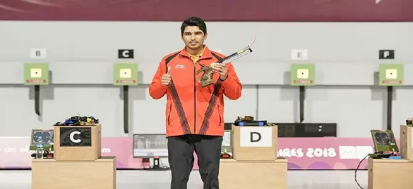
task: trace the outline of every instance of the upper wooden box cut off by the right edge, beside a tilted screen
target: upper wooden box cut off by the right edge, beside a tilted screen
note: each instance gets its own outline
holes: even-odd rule
[[[400,151],[402,158],[413,161],[413,127],[400,125]]]

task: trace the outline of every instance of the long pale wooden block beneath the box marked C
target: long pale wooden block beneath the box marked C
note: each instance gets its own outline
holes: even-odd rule
[[[33,159],[31,189],[116,189],[116,158],[95,161]]]

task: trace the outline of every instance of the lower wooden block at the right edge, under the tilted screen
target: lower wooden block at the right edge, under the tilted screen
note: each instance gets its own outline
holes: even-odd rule
[[[368,189],[407,189],[413,185],[413,162],[405,159],[369,159]]]

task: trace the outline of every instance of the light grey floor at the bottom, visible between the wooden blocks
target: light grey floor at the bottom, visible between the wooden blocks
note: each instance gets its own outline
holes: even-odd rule
[[[117,171],[117,189],[168,189],[169,171]],[[357,171],[357,180],[367,189],[367,171]],[[31,171],[0,171],[1,189],[31,188]],[[193,171],[189,189],[202,189],[198,171]],[[359,189],[354,171],[288,171],[289,189]]]

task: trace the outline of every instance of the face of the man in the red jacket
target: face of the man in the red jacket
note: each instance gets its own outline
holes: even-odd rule
[[[185,45],[193,50],[199,49],[204,45],[206,34],[198,26],[187,26],[182,35]]]

